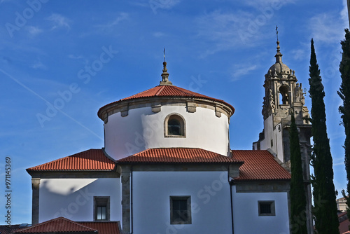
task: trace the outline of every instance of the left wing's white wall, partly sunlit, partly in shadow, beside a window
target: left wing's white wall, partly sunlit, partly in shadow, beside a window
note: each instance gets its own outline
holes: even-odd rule
[[[110,220],[121,220],[120,178],[41,179],[39,223],[59,216],[93,221],[94,196],[110,196]]]

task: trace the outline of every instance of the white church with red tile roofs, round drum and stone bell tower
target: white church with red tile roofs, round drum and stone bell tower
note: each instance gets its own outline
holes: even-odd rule
[[[264,130],[252,150],[230,149],[231,104],[173,85],[163,62],[159,85],[99,109],[102,149],[27,169],[33,227],[60,220],[118,222],[116,233],[290,233],[295,114],[312,233],[309,113],[279,42],[275,57],[265,75]]]

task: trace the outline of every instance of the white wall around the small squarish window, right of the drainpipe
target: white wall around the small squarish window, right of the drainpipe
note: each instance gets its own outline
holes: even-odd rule
[[[287,193],[236,193],[232,186],[235,234],[288,234]],[[276,216],[259,216],[258,200],[274,200]]]

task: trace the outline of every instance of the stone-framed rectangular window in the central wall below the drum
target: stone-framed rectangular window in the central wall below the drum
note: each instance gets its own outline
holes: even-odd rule
[[[191,197],[170,196],[170,224],[191,223]]]

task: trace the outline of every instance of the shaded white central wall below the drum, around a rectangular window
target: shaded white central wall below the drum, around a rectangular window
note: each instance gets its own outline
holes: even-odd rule
[[[228,172],[133,172],[133,233],[232,233]],[[170,224],[171,195],[190,195],[192,224]]]

